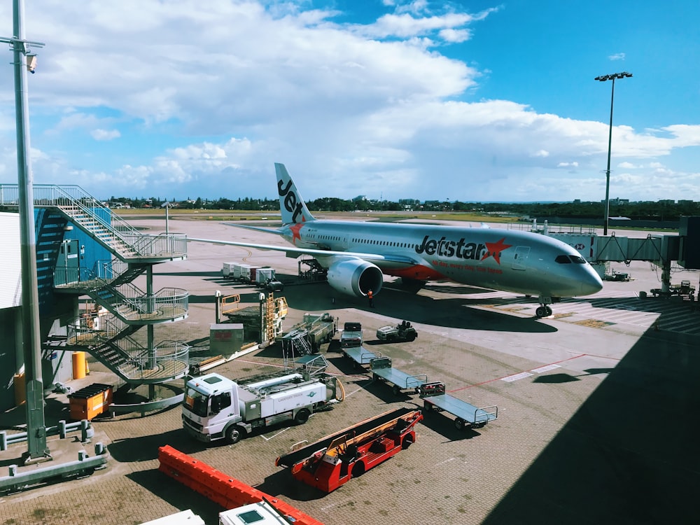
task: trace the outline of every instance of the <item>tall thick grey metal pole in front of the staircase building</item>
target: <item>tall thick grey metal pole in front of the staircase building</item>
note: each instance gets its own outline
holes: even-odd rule
[[[13,36],[0,37],[10,44],[15,68],[15,119],[17,122],[18,205],[20,211],[20,254],[22,262],[22,355],[25,361],[27,399],[27,451],[25,464],[51,459],[46,443],[41,377],[41,339],[39,333],[38,286],[36,280],[36,234],[34,232],[34,189],[29,158],[29,107],[27,106],[27,56],[29,46],[43,43],[25,40],[25,5],[13,0]],[[34,72],[36,59],[29,64]]]

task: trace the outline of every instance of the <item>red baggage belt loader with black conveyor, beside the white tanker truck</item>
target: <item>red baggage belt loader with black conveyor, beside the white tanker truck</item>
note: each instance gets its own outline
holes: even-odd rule
[[[420,410],[399,408],[365,419],[333,435],[297,449],[274,462],[290,468],[297,481],[332,492],[416,440]]]

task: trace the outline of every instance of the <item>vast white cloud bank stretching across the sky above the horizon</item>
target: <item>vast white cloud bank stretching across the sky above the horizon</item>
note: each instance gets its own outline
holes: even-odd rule
[[[28,3],[28,38],[47,42],[29,86],[37,181],[262,197],[274,195],[272,162],[286,162],[307,198],[604,193],[607,122],[538,113],[527,100],[477,100],[488,71],[440,53],[478,38],[475,22],[497,9],[385,0],[393,13],[344,25],[335,11],[304,5]],[[0,19],[10,18],[0,4]],[[10,75],[0,68],[1,85]],[[13,104],[11,89],[0,90],[0,181],[14,176]],[[612,139],[618,172],[665,181],[669,193],[671,176],[687,188],[698,178],[671,156],[700,145],[700,126],[617,125]],[[698,188],[685,195],[700,200]]]

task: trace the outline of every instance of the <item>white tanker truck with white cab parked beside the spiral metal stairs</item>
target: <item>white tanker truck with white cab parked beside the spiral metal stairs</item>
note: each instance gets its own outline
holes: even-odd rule
[[[306,423],[312,412],[332,406],[337,380],[295,372],[247,384],[212,373],[185,384],[183,428],[203,442],[235,443],[258,428],[281,421]]]

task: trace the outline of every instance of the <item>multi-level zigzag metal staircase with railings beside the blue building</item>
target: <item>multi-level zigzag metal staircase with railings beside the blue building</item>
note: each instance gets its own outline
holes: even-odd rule
[[[53,268],[54,293],[87,295],[111,314],[76,319],[59,344],[89,352],[130,384],[183,377],[189,365],[189,346],[179,341],[153,344],[153,325],[186,318],[188,293],[181,288],[153,293],[152,268],[160,262],[186,259],[186,236],[139,232],[79,186],[35,184],[33,189],[35,208],[64,218],[114,257],[98,261],[92,269]],[[18,202],[18,185],[0,184],[0,205],[17,207]],[[144,273],[147,292],[132,283]],[[148,330],[146,346],[131,337],[144,325]],[[55,349],[56,342],[44,346]]]

